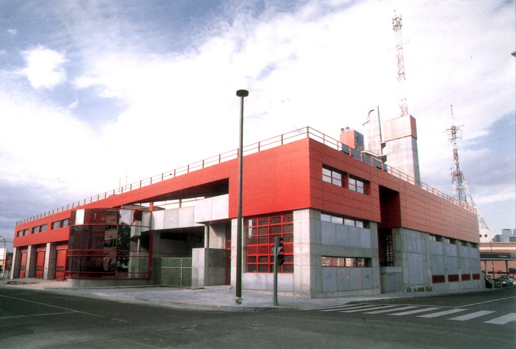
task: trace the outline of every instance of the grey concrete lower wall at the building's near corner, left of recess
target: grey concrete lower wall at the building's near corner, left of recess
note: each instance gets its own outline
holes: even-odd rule
[[[368,268],[322,267],[322,256],[368,258]],[[376,223],[359,228],[322,222],[320,211],[294,211],[294,295],[380,293]]]

